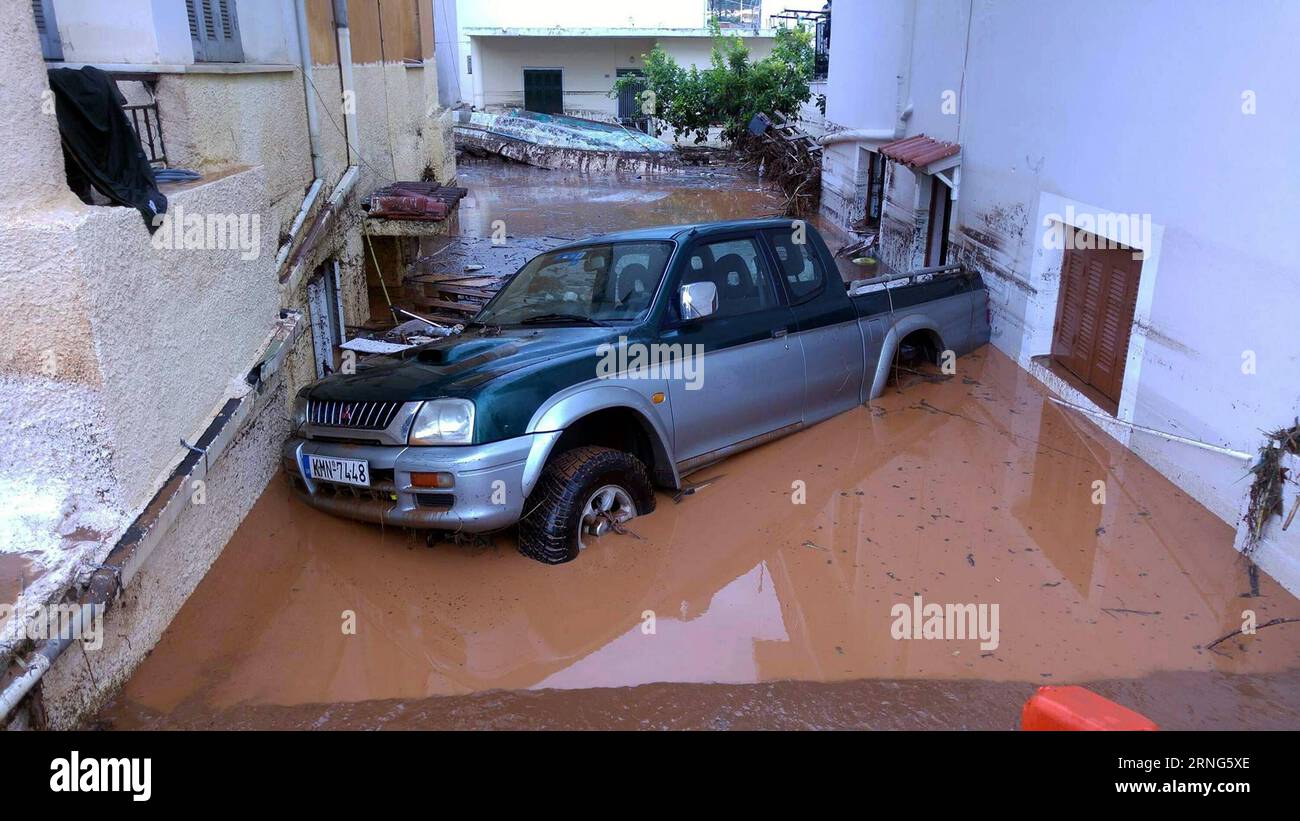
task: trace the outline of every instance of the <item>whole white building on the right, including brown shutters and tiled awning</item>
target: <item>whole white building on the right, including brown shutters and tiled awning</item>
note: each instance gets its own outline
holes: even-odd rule
[[[836,4],[824,216],[983,274],[993,344],[1236,526],[1300,416],[1297,35],[1284,1]],[[1300,588],[1295,534],[1257,559]]]

